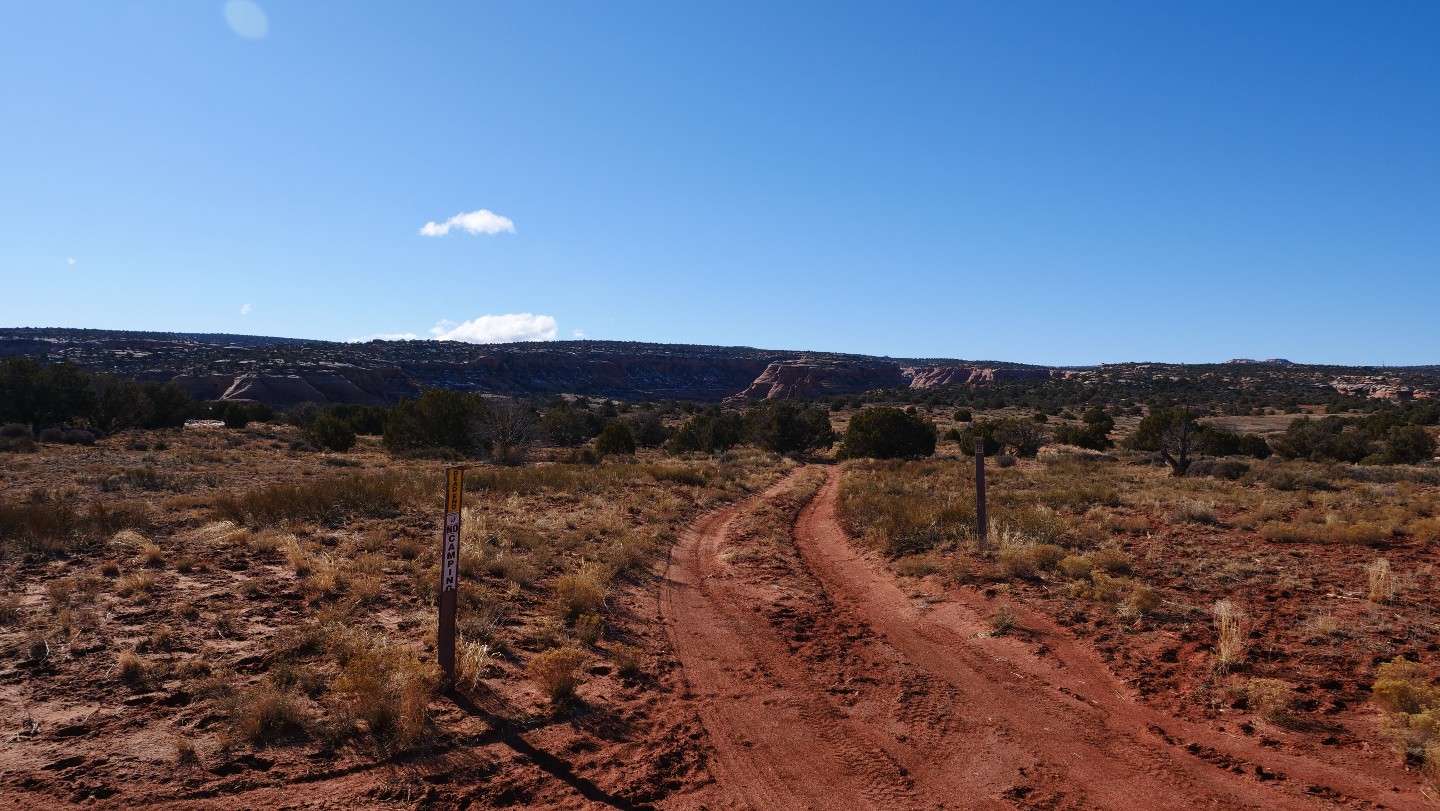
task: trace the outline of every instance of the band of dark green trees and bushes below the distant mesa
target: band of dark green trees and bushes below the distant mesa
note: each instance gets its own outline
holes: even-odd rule
[[[1156,454],[1172,472],[1184,475],[1198,457],[1254,457],[1276,452],[1286,458],[1333,460],[1365,464],[1414,464],[1434,455],[1434,439],[1424,426],[1440,422],[1440,403],[1414,400],[1388,403],[1345,398],[1312,389],[1310,399],[1323,400],[1326,411],[1346,412],[1312,418],[1297,416],[1270,441],[1207,424],[1212,413],[1254,415],[1259,411],[1299,412],[1295,398],[1270,406],[1256,405],[1254,395],[1234,400],[1195,405],[1201,389],[1181,387],[1138,399],[1142,390],[1117,389],[1071,380],[1027,385],[988,383],[937,390],[873,392],[825,398],[829,411],[863,408],[851,421],[841,458],[919,457],[935,452],[933,424],[914,412],[896,416],[883,403],[923,400],[959,405],[946,441],[969,452],[979,441],[988,454],[1002,451],[1034,457],[1050,442],[1104,451],[1113,447],[1115,416],[1143,415],[1126,439],[1126,447]],[[1116,396],[1123,395],[1123,396]],[[1106,399],[1115,396],[1115,399]],[[1061,399],[1066,398],[1066,399]],[[1250,399],[1246,399],[1250,398]],[[1312,403],[1313,406],[1315,403]],[[1030,418],[975,419],[975,408],[1034,408]],[[1083,413],[1076,418],[1070,409]],[[1349,409],[1362,411],[1361,415]],[[763,400],[747,409],[701,408],[688,402],[589,405],[583,398],[510,400],[446,389],[428,389],[413,400],[393,408],[331,405],[324,409],[302,403],[284,415],[258,402],[194,403],[173,385],[137,383],[114,375],[91,375],[69,363],[42,366],[29,359],[0,362],[0,449],[26,449],[35,432],[40,439],[91,442],[127,428],[176,426],[187,416],[220,418],[230,428],[249,422],[287,419],[301,428],[305,447],[346,451],[357,435],[383,435],[384,447],[400,454],[482,457],[517,464],[537,444],[577,448],[575,461],[603,455],[626,455],[634,448],[664,445],[672,452],[719,452],[746,442],[778,454],[811,454],[837,439],[827,408],[793,400]],[[1051,418],[1060,418],[1051,422]],[[585,448],[612,424],[595,448]],[[929,426],[929,428],[926,428]]]

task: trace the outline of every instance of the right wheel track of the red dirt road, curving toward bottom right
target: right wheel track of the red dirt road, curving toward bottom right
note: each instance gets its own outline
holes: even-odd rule
[[[1015,640],[981,637],[979,614],[963,605],[917,611],[840,527],[838,480],[831,470],[796,521],[801,556],[837,605],[909,663],[953,686],[960,712],[981,722],[981,735],[946,739],[955,749],[948,765],[913,769],[919,788],[932,785],[933,775],[936,785],[978,797],[998,791],[1015,805],[1048,795],[1035,807],[1054,807],[1061,795],[1079,799],[1077,807],[1104,808],[1428,807],[1418,792],[1392,792],[1391,781],[1354,763],[1267,750],[1151,710],[1125,694],[1093,651],[1041,618],[1022,622],[1045,637],[1047,657]],[[965,763],[989,768],[956,785]],[[1014,772],[1004,775],[999,763]]]

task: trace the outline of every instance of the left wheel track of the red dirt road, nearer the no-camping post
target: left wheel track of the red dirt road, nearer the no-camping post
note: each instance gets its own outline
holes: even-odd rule
[[[857,733],[809,683],[763,611],[788,583],[756,583],[720,557],[734,520],[795,484],[701,519],[674,549],[661,617],[714,749],[711,771],[733,807],[920,807],[888,753]],[[837,804],[837,798],[845,798]]]

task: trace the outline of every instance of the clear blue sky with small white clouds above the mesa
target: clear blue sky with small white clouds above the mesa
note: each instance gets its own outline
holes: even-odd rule
[[[0,0],[0,326],[1440,363],[1437,40],[1428,0]]]

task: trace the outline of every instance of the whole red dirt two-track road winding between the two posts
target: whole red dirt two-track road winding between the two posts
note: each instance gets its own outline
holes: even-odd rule
[[[1266,746],[1149,709],[1044,617],[907,596],[835,520],[825,472],[786,543],[701,519],[661,617],[711,748],[677,808],[1433,808],[1388,752]],[[812,470],[812,468],[808,468]],[[814,475],[814,474],[811,474]]]

